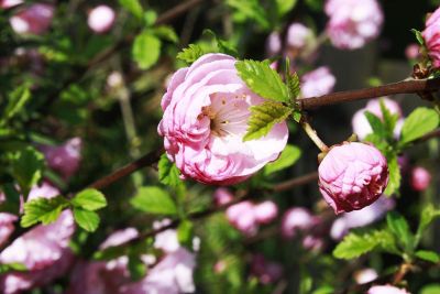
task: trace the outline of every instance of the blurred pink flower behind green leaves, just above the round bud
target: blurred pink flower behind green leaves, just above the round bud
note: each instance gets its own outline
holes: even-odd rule
[[[362,108],[358,110],[352,119],[352,127],[353,127],[353,132],[358,135],[360,140],[364,140],[367,134],[373,132],[372,127],[370,126],[369,120],[365,117],[365,111],[370,111],[376,117],[378,117],[381,120],[383,119],[383,113],[381,110],[381,100],[384,102],[385,108],[388,109],[388,111],[392,115],[397,115],[400,119],[397,121],[396,127],[394,129],[394,137],[398,138],[400,135],[400,130],[402,126],[404,123],[404,119],[402,119],[402,109],[400,106],[394,101],[393,99],[389,98],[381,98],[381,99],[373,99],[370,100],[365,108]]]

